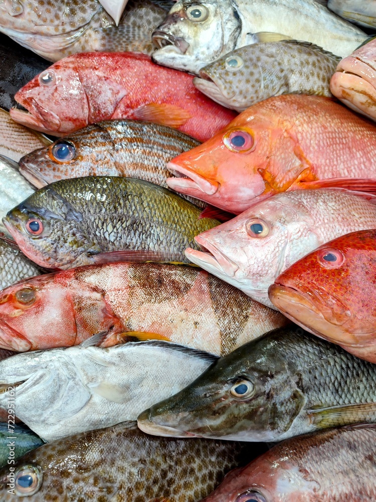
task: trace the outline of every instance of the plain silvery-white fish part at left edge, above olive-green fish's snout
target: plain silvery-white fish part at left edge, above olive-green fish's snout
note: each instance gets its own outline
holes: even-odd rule
[[[20,174],[17,162],[0,155],[0,232],[11,237],[2,218],[16,204],[35,192],[35,188]]]

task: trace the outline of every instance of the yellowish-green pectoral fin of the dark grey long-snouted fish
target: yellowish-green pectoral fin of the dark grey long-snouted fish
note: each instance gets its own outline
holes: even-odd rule
[[[376,403],[359,403],[344,406],[331,406],[330,408],[311,409],[307,411],[311,423],[326,429],[342,425],[344,422],[356,424],[364,422],[367,417],[376,414]]]

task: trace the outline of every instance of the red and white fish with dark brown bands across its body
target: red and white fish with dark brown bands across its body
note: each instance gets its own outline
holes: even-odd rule
[[[0,293],[0,347],[19,351],[76,345],[96,333],[107,347],[130,332],[224,355],[286,322],[279,312],[189,266],[92,265]]]

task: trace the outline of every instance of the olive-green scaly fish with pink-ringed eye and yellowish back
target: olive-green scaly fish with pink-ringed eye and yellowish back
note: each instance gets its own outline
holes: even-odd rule
[[[220,223],[200,214],[153,183],[86,176],[37,190],[3,223],[37,265],[69,269],[108,261],[187,262],[184,249],[196,246],[194,236]]]

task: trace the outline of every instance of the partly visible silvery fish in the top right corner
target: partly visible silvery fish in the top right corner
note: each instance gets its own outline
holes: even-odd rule
[[[365,28],[376,28],[375,0],[328,0],[327,6],[351,23]]]

